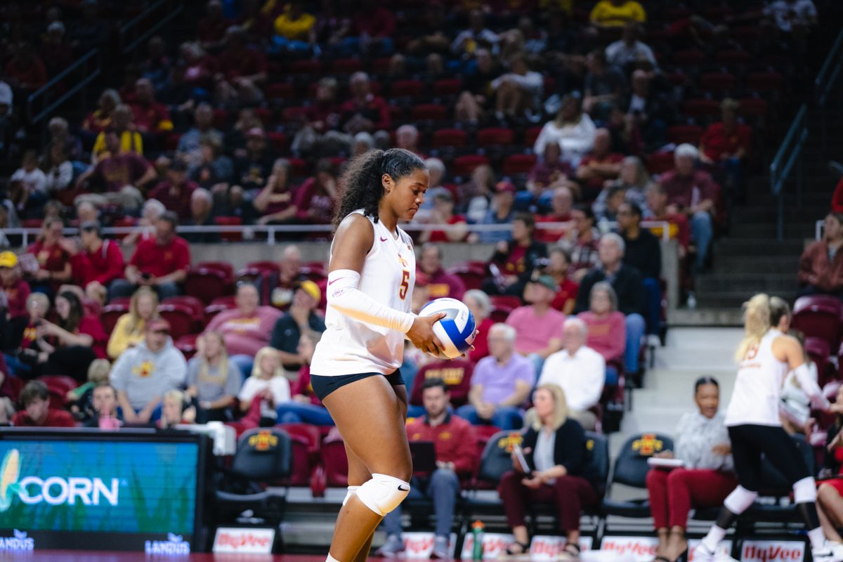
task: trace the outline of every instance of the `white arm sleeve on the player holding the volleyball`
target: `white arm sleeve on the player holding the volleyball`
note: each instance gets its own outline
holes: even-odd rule
[[[328,306],[350,318],[406,334],[416,319],[415,314],[385,307],[360,291],[360,274],[355,270],[336,270],[328,274]]]

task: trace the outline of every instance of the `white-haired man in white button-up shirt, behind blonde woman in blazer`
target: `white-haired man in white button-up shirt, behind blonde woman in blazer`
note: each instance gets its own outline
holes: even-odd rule
[[[593,430],[597,417],[588,411],[597,404],[606,379],[606,361],[586,347],[588,327],[579,318],[562,325],[561,351],[550,355],[541,370],[539,384],[556,384],[565,391],[569,415],[586,430]]]

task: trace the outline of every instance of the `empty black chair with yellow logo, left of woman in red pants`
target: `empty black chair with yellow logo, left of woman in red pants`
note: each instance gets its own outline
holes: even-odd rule
[[[647,490],[647,472],[650,470],[647,459],[657,452],[673,448],[674,440],[658,433],[631,436],[621,447],[618,458],[615,459],[615,466],[606,486],[606,495],[611,493],[613,484],[625,484],[632,488]],[[606,497],[601,509],[604,516],[650,517],[650,500],[647,497],[635,500],[613,500]]]

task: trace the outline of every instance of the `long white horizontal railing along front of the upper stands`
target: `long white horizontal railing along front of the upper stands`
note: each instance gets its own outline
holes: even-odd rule
[[[617,223],[607,223],[609,227],[616,227]],[[465,225],[467,230],[471,233],[489,233],[489,232],[507,232],[512,230],[512,225],[509,224],[470,224]],[[661,228],[662,240],[667,242],[670,239],[670,222],[667,221],[644,221],[641,223],[644,228]],[[538,222],[535,227],[537,229],[553,229],[561,230],[571,227],[570,222]],[[402,224],[401,228],[408,232],[422,232],[426,230],[438,230],[448,232],[449,230],[456,230],[462,228],[459,225],[452,224]],[[257,234],[266,233],[266,244],[277,244],[283,242],[279,235],[284,233],[330,233],[332,227],[330,224],[277,224],[277,225],[211,225],[201,227],[178,227],[180,234],[185,233],[212,233],[212,234],[228,234],[239,233],[244,241],[255,240]],[[129,234],[138,231],[144,231],[144,227],[109,227],[103,228],[105,234]],[[40,234],[40,228],[4,228],[0,232],[0,236],[20,236],[22,237],[21,245],[26,247],[30,244],[30,237],[37,238]],[[76,227],[67,227],[62,233],[65,235],[74,235],[79,232]]]

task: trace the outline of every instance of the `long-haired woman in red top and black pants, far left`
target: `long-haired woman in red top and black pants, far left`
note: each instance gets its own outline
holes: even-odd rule
[[[86,316],[75,292],[56,297],[56,324],[41,320],[35,327],[40,354],[37,375],[65,375],[78,383],[88,379],[94,359],[105,359],[108,335],[99,318]]]

